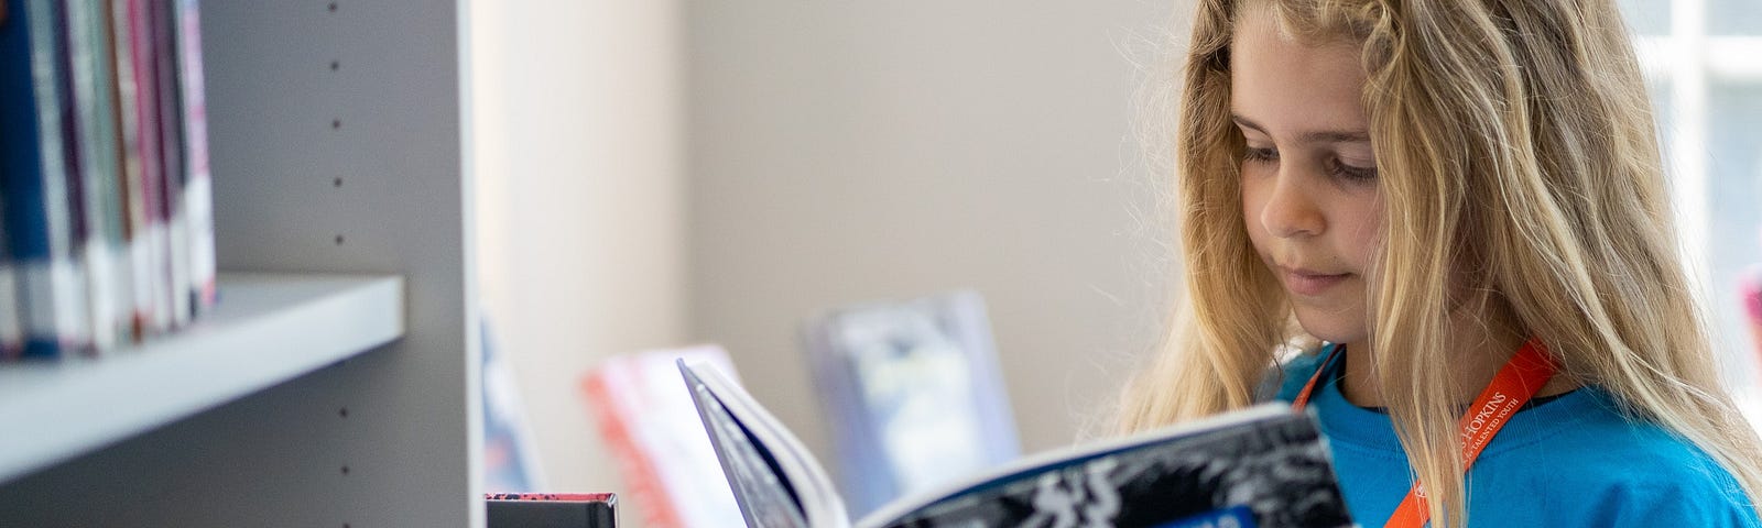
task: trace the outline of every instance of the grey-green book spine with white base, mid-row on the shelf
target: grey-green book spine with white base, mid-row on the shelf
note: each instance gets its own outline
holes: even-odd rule
[[[79,132],[81,252],[86,262],[90,350],[104,354],[127,343],[120,164],[116,130],[115,46],[104,0],[67,2],[76,130]]]

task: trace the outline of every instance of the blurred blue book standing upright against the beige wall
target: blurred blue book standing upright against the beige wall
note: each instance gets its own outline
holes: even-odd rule
[[[851,514],[1020,454],[978,292],[839,308],[803,341]]]

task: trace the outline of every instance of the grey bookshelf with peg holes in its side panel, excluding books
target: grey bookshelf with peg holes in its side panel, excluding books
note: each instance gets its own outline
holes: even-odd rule
[[[224,308],[0,375],[0,524],[483,524],[462,12],[203,2]]]

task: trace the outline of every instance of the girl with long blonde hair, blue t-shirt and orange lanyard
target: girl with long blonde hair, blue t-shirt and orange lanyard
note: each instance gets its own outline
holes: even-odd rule
[[[1653,134],[1610,0],[1202,0],[1124,429],[1302,400],[1366,526],[1762,524]]]

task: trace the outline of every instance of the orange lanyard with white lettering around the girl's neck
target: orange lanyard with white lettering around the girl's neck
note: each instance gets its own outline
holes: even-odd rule
[[[1346,345],[1337,345],[1329,352],[1327,359],[1322,359],[1322,368],[1316,368],[1316,373],[1309,377],[1309,384],[1292,401],[1293,410],[1302,410],[1309,403],[1309,392],[1314,392],[1322,373],[1327,371],[1329,364],[1334,363],[1334,356],[1339,356],[1343,348]],[[1462,470],[1475,465],[1475,458],[1480,458],[1480,451],[1487,449],[1492,435],[1498,435],[1512,414],[1522,408],[1536,391],[1542,391],[1542,385],[1547,385],[1547,380],[1558,370],[1559,366],[1547,357],[1547,347],[1542,341],[1529,340],[1522,348],[1517,348],[1517,356],[1512,356],[1512,361],[1507,361],[1499,368],[1499,373],[1492,377],[1492,384],[1487,384],[1487,389],[1480,391],[1480,398],[1475,398],[1475,405],[1462,414]],[[1383,526],[1418,528],[1425,524],[1429,516],[1431,510],[1425,509],[1425,488],[1415,482]]]

